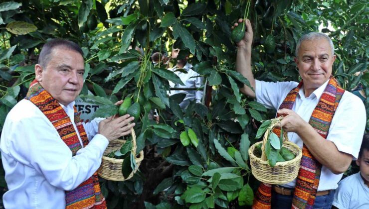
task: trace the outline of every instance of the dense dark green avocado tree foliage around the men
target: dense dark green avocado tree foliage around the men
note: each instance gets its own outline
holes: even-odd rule
[[[109,208],[250,205],[258,181],[247,149],[256,142],[260,121],[275,112],[238,90],[248,81],[234,69],[230,33],[245,6],[244,0],[1,1],[0,131],[7,112],[34,79],[41,46],[50,38],[66,38],[84,51],[81,98],[101,106],[96,115],[116,111],[112,104],[127,96],[143,107],[135,131],[145,159],[131,180],[101,179]],[[333,75],[346,90],[363,89],[367,96],[368,12],[363,0],[252,0],[248,18],[254,30],[255,78],[298,81],[296,42],[309,31],[321,31],[335,44]],[[154,67],[150,55],[170,54],[173,45],[181,48],[180,57],[189,55],[193,70],[204,77],[203,104],[184,110],[179,107],[183,95],[167,96],[168,80],[178,83],[179,78]],[[154,108],[159,123],[150,117]],[[353,166],[347,174],[356,171]],[[4,192],[2,169],[0,174]]]

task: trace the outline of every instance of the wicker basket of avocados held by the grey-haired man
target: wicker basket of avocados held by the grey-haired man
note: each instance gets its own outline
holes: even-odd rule
[[[292,182],[297,177],[300,169],[302,150],[295,143],[288,141],[287,133],[284,132],[282,146],[290,150],[296,157],[289,161],[277,162],[274,167],[271,167],[264,154],[264,146],[268,139],[268,133],[271,130],[272,128],[268,128],[264,134],[263,141],[253,144],[248,150],[252,175],[257,180],[267,184],[286,184]],[[262,156],[258,158],[254,155],[254,150],[256,145],[260,143],[263,143],[261,147]]]

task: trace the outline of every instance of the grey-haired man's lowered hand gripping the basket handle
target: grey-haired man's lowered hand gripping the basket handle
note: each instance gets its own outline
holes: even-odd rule
[[[281,120],[280,126],[287,132],[295,132],[299,134],[299,131],[302,130],[304,125],[309,125],[309,123],[303,120],[300,115],[291,109],[284,108],[278,110],[277,112],[284,116],[284,118]]]

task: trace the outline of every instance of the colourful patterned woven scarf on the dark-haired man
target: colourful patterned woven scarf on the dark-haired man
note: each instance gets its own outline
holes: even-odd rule
[[[59,102],[46,92],[36,80],[31,83],[26,99],[35,104],[45,114],[47,119],[50,120],[58,131],[61,140],[72,151],[72,156],[76,155],[82,146],[69,116]],[[82,139],[83,146],[87,146],[87,134],[76,111],[76,107],[74,107],[74,122]],[[74,190],[65,191],[65,201],[67,209],[107,208],[96,172]]]

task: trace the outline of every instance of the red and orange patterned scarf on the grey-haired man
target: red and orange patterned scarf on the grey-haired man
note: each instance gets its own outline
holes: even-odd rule
[[[299,93],[300,87],[303,85],[303,81],[293,89],[279,109],[288,108],[292,109],[295,103],[296,96]],[[344,94],[345,90],[342,89],[336,79],[330,78],[329,83],[324,90],[317,106],[315,107],[309,124],[323,137],[327,138],[328,130],[332,122],[333,115],[337,109],[337,106]],[[280,115],[277,114],[277,117]],[[274,129],[273,132],[280,135],[280,130]],[[315,196],[317,193],[319,178],[322,165],[314,158],[308,148],[303,146],[302,158],[300,163],[300,170],[297,176],[297,182],[292,200],[292,209],[312,209]],[[256,191],[253,209],[270,209],[272,197],[272,185],[261,183]]]

